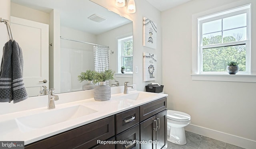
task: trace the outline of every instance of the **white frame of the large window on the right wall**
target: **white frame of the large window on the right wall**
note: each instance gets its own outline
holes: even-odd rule
[[[198,23],[198,74],[227,74],[227,72],[204,72],[203,71],[203,49],[208,48],[215,48],[215,47],[226,47],[226,46],[234,46],[234,45],[246,45],[246,71],[244,72],[238,72],[238,74],[251,74],[251,48],[250,48],[250,37],[251,37],[251,30],[250,30],[250,24],[251,24],[251,6],[250,4],[245,6],[240,6],[237,8],[233,8],[230,10],[225,10],[222,12],[217,12],[215,14],[210,14],[207,16],[203,16],[200,18],[197,18]],[[202,24],[206,22],[212,22],[215,20],[220,20],[232,16],[236,16],[239,14],[245,14],[246,13],[246,40],[244,41],[234,41],[234,42],[228,42],[228,43],[219,43],[219,44],[212,44],[212,45],[202,45],[203,43],[203,34],[202,34]],[[223,24],[222,24],[223,25]],[[234,28],[233,28],[234,29]],[[231,29],[229,29],[231,30]],[[222,40],[223,40],[223,26],[222,26]],[[220,31],[218,31],[220,32]]]

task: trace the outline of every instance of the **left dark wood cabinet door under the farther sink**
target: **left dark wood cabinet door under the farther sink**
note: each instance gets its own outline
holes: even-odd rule
[[[140,148],[156,149],[156,145],[152,142],[156,140],[156,116],[148,118],[140,123]]]

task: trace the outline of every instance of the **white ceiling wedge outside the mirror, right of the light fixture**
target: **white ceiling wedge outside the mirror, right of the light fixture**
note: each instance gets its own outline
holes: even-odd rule
[[[147,0],[152,6],[158,9],[160,12],[168,10],[172,7],[186,3],[190,0]]]

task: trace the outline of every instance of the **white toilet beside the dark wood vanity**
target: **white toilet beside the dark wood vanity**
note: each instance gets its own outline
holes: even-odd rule
[[[178,145],[187,143],[184,127],[190,124],[190,115],[167,110],[167,141]]]

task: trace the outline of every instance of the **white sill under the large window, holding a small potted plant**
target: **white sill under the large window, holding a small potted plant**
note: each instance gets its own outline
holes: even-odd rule
[[[192,80],[256,82],[255,74],[190,74]]]

